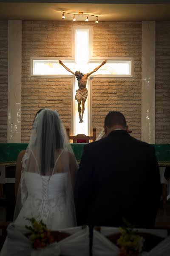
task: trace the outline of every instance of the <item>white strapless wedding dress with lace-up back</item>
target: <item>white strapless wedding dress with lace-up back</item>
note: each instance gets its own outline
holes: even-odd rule
[[[21,178],[26,182],[28,196],[14,223],[26,226],[30,224],[26,218],[35,218],[42,220],[50,230],[73,227],[74,218],[66,201],[68,175],[68,172],[52,176],[24,173]]]

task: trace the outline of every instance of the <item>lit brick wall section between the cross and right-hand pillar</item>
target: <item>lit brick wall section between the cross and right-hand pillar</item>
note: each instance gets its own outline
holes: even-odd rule
[[[133,57],[134,77],[93,79],[92,125],[97,134],[110,110],[121,111],[132,136],[141,139],[141,22],[100,22],[94,26],[94,57]]]

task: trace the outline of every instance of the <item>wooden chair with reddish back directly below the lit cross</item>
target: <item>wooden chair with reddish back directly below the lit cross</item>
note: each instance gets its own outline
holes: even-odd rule
[[[85,134],[77,134],[70,136],[70,128],[66,128],[69,140],[73,140],[73,143],[90,143],[90,140],[96,140],[96,128],[93,128],[92,136],[86,136]]]

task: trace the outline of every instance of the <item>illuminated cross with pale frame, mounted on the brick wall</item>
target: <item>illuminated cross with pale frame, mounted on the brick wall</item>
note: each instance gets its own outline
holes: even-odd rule
[[[75,36],[73,37],[73,49],[71,57],[60,57],[64,61],[66,67],[73,73],[69,73],[62,65],[57,61],[59,57],[31,57],[31,76],[43,76],[43,77],[75,77],[76,70],[81,70],[82,73],[89,74],[91,70],[99,64],[101,64],[102,59],[98,57],[91,57],[91,29],[82,26],[82,28],[74,26]],[[131,58],[107,58],[107,64],[100,67],[94,77],[105,77],[113,78],[132,76],[132,63]],[[101,66],[101,65],[100,65]],[[73,76],[74,75],[74,76]],[[85,77],[84,77],[85,78]],[[79,107],[79,102],[74,100],[76,89],[79,87],[79,82],[77,78],[72,80],[72,117],[71,117],[71,135],[76,134],[86,134],[89,135],[91,126],[91,79],[86,79],[85,87],[88,89],[88,97],[85,101],[85,108],[81,109],[83,113],[83,122],[80,122],[79,112],[77,111]],[[63,81],[64,82],[64,81]],[[84,87],[84,88],[85,88]],[[89,90],[90,89],[90,90]],[[85,89],[86,90],[86,89]],[[77,97],[76,97],[77,98]],[[78,99],[78,98],[77,98]],[[83,102],[84,103],[84,102]],[[82,114],[81,114],[82,118]]]

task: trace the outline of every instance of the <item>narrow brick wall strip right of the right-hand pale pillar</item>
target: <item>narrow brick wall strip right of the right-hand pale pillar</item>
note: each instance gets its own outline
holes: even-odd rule
[[[170,21],[156,22],[155,118],[155,143],[170,143]]]

